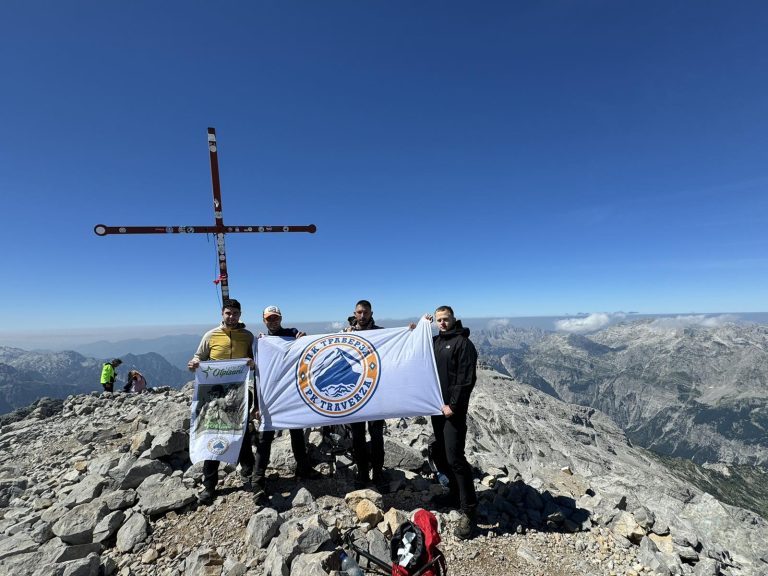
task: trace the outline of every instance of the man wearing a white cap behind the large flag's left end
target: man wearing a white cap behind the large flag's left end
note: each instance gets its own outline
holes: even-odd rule
[[[264,308],[263,318],[264,325],[267,327],[267,334],[259,334],[259,338],[262,336],[278,336],[280,338],[294,339],[306,336],[304,332],[301,332],[296,328],[283,328],[283,314],[277,306],[267,306]],[[304,443],[304,430],[293,429],[289,432],[291,434],[293,456],[296,459],[296,477],[299,479],[308,479],[317,476],[317,473],[310,465],[309,457],[307,456],[307,447]],[[269,466],[269,457],[274,439],[275,431],[267,430],[265,432],[259,432],[256,441],[256,465],[254,467],[253,482],[255,484],[254,501],[257,504],[263,504],[267,498],[266,473],[267,466]]]

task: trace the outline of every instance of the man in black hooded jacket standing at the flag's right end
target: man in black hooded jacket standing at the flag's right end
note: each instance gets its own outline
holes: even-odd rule
[[[429,315],[427,318],[432,319]],[[441,416],[432,416],[435,432],[432,458],[449,480],[448,494],[437,503],[461,509],[454,534],[463,540],[472,533],[477,509],[472,467],[464,456],[469,396],[477,380],[477,350],[469,340],[469,328],[456,320],[450,306],[435,310],[435,323],[439,329],[433,338],[435,364],[445,404]]]

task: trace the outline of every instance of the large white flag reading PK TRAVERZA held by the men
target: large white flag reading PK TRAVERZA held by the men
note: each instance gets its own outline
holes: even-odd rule
[[[260,430],[440,414],[430,323],[256,341]]]

